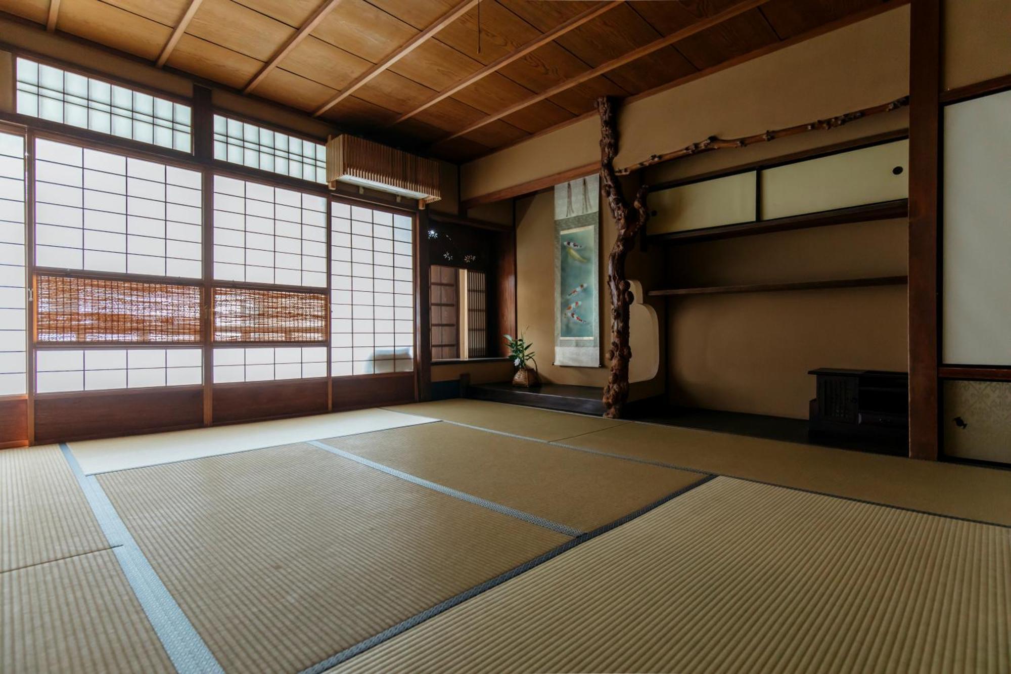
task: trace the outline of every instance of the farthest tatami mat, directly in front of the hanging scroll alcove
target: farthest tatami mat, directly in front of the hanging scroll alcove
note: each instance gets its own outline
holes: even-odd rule
[[[385,409],[549,441],[593,431],[616,429],[629,423],[603,417],[552,412],[534,407],[504,405],[466,398],[398,405]]]

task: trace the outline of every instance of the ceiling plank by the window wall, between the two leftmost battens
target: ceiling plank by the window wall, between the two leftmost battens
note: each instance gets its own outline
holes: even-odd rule
[[[99,0],[63,0],[60,30],[154,61],[172,28]]]

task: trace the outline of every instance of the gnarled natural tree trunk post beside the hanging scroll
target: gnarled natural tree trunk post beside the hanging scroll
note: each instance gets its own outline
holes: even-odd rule
[[[630,283],[625,278],[625,257],[635,244],[636,234],[646,224],[649,212],[646,209],[646,185],[639,187],[635,200],[629,206],[615,174],[618,123],[614,102],[602,96],[596,99],[596,109],[601,114],[601,184],[618,229],[615,245],[608,256],[608,288],[611,291],[611,348],[608,349],[608,359],[611,360],[611,374],[608,386],[604,388],[604,416],[620,419],[629,397],[629,360],[632,359],[629,307],[633,298],[629,291]]]

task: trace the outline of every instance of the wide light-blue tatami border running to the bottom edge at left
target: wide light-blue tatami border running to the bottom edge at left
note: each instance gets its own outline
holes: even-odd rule
[[[98,480],[84,474],[66,442],[60,443],[60,449],[176,670],[181,674],[223,674],[217,659],[141,552]]]

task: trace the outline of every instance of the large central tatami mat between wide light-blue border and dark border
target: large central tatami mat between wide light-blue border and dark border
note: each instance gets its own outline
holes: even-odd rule
[[[297,672],[570,540],[306,444],[98,481],[225,671]]]

